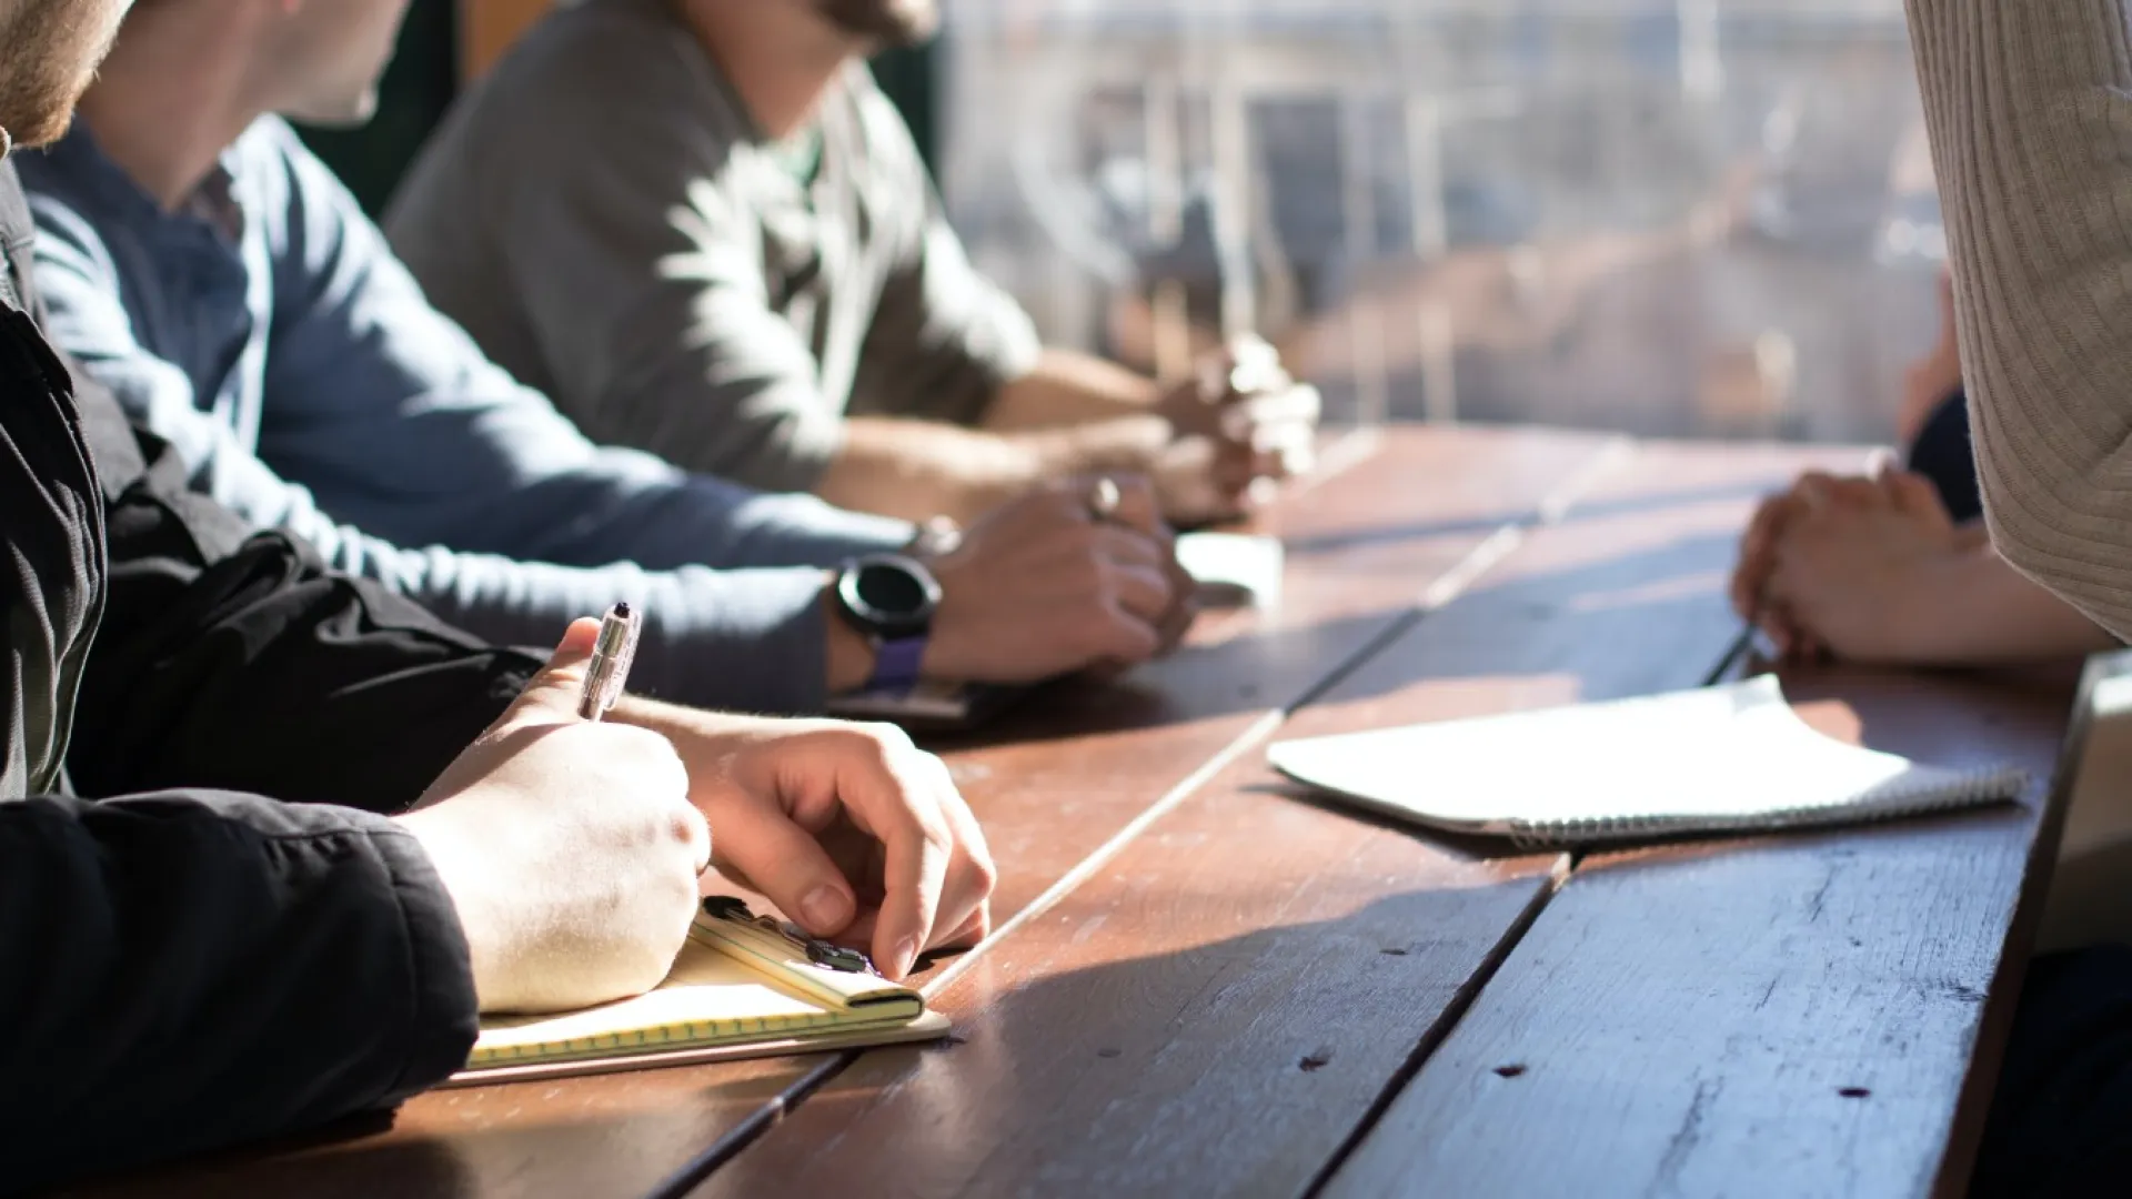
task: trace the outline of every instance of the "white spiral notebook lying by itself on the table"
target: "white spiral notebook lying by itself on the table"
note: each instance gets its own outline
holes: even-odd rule
[[[1947,770],[1831,740],[1776,676],[1610,704],[1273,745],[1273,766],[1401,821],[1595,845],[1863,824],[2019,798],[2017,768]]]

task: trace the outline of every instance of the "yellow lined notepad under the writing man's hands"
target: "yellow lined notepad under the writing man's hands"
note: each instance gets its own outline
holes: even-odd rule
[[[917,990],[874,973],[863,954],[712,896],[655,990],[561,1016],[484,1018],[452,1082],[927,1041],[947,1030]]]

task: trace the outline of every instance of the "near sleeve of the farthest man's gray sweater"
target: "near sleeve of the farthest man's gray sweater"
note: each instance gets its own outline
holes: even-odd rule
[[[727,179],[748,122],[684,36],[616,6],[544,23],[437,132],[386,230],[439,309],[591,437],[812,491],[842,420]]]

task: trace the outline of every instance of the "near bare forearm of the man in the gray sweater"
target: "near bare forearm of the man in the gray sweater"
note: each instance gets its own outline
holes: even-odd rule
[[[855,416],[817,493],[840,508],[904,521],[968,523],[1047,478],[1143,471],[1166,442],[1168,425],[1145,414],[1013,435]]]

